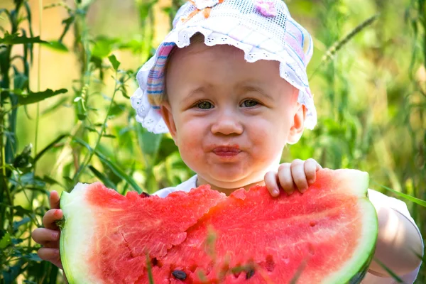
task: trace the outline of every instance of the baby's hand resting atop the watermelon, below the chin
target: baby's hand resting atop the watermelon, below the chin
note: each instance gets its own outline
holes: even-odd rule
[[[265,185],[273,197],[279,195],[280,188],[288,195],[291,195],[295,190],[303,193],[309,185],[315,182],[317,170],[321,168],[321,165],[314,159],[296,159],[291,164],[282,163],[278,168],[278,173],[266,173]]]

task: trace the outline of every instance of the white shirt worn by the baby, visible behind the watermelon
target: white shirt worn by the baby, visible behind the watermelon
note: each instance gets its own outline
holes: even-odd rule
[[[180,185],[176,187],[166,187],[162,190],[158,190],[158,192],[155,192],[154,195],[158,195],[159,197],[166,197],[171,192],[175,191],[185,191],[189,192],[192,188],[197,187],[197,175],[194,175],[189,180],[186,180],[185,182],[182,182]],[[401,200],[397,200],[393,197],[388,197],[386,195],[383,195],[381,192],[377,192],[375,190],[368,190],[368,197],[373,203],[374,207],[380,207],[381,204],[386,204],[388,207],[391,207],[392,209],[395,209],[396,211],[403,214],[405,217],[410,220],[410,222],[413,223],[415,228],[417,229],[418,233],[420,234],[420,230],[418,229],[417,225],[414,222],[414,219],[410,216],[410,212],[408,212],[407,205],[402,202]],[[420,234],[421,235],[421,234]],[[420,263],[421,265],[421,263]],[[417,278],[417,274],[419,273],[420,266],[418,266],[414,271],[411,271],[408,274],[405,275],[398,275],[398,277],[401,278],[401,280],[404,281],[404,283],[412,284],[415,281],[415,278]],[[396,284],[398,283],[393,278],[387,278],[387,277],[379,277],[376,275],[373,275],[369,272],[367,272],[366,277],[362,280],[361,284]]]

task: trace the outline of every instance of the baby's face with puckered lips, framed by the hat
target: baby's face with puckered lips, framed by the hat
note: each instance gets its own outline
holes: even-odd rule
[[[165,81],[163,118],[180,155],[216,187],[263,181],[302,135],[305,111],[279,62],[249,63],[230,45],[195,43],[176,50]]]

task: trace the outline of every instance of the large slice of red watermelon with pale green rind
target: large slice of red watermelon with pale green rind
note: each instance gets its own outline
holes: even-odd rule
[[[327,169],[277,198],[79,184],[61,196],[62,265],[69,283],[360,283],[378,229],[367,187],[367,173]]]

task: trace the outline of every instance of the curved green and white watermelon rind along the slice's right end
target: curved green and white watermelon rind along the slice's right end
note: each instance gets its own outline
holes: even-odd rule
[[[337,170],[340,171],[340,170]],[[349,173],[349,170],[344,170]],[[356,182],[356,186],[352,185],[351,190],[356,190],[357,196],[359,196],[359,207],[360,212],[363,213],[364,220],[361,239],[359,240],[359,246],[362,246],[363,250],[356,249],[355,255],[352,256],[351,261],[345,263],[346,268],[333,273],[329,278],[324,279],[323,283],[361,283],[362,278],[368,271],[368,266],[373,259],[373,254],[376,248],[377,234],[378,234],[378,219],[376,208],[368,200],[368,173],[361,172],[359,170],[350,170],[352,175],[351,179]],[[356,173],[358,172],[358,173]]]

